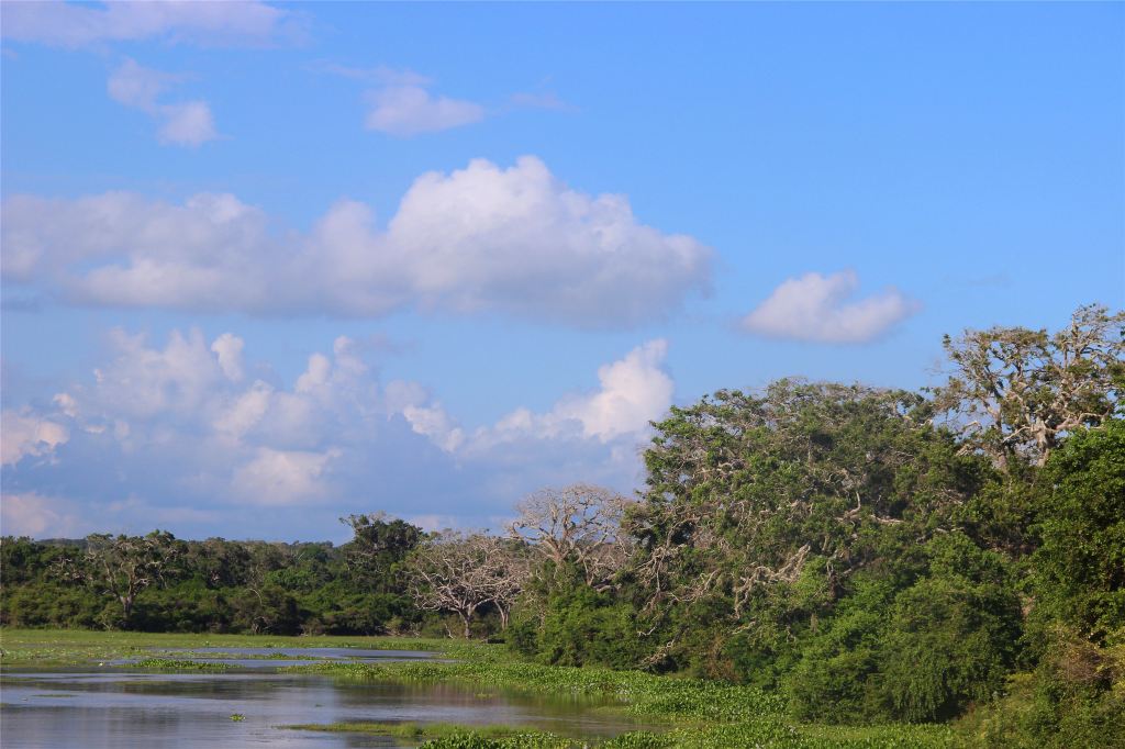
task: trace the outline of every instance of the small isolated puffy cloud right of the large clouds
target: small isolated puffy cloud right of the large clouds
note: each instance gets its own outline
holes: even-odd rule
[[[853,271],[789,279],[742,318],[742,328],[775,339],[865,343],[919,308],[917,301],[896,288],[848,301],[858,287],[860,279]]]

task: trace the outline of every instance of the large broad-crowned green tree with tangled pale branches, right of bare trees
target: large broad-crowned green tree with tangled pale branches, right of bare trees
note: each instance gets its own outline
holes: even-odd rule
[[[669,668],[736,633],[744,662],[775,659],[858,570],[953,526],[983,462],[956,454],[920,396],[861,386],[721,390],[656,428],[627,530],[639,605],[665,642],[650,662]]]

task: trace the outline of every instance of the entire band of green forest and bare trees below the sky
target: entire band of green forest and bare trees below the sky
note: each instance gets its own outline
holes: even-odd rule
[[[1125,313],[944,346],[924,392],[782,380],[674,407],[637,496],[544,489],[504,533],[4,538],[0,621],[489,637],[758,685],[799,720],[1125,736]]]

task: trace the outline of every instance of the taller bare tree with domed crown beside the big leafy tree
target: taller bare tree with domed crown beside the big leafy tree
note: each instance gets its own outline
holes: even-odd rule
[[[519,517],[508,532],[530,541],[556,572],[574,562],[586,585],[604,589],[629,556],[630,539],[621,532],[621,522],[631,504],[590,484],[542,489],[516,505]]]

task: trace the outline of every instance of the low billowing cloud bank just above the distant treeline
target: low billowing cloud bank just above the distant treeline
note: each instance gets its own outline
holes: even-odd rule
[[[4,414],[4,491],[25,496],[12,522],[28,532],[63,535],[92,517],[84,529],[260,535],[288,518],[287,535],[310,538],[378,508],[480,525],[542,486],[636,486],[639,445],[673,391],[666,343],[652,341],[598,368],[592,391],[474,427],[418,382],[379,381],[348,337],[289,383],[248,367],[233,333],[176,331],[155,345],[118,331],[108,345],[48,412]],[[57,500],[34,500],[47,486]]]

